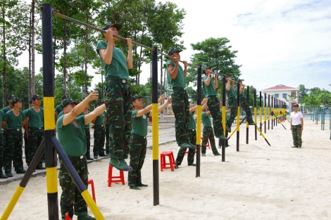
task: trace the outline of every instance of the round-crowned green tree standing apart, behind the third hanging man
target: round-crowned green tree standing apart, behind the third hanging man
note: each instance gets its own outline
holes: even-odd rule
[[[191,44],[194,51],[199,51],[191,56],[191,63],[202,65],[202,68],[212,67],[219,76],[230,75],[237,80],[240,76],[239,68],[241,65],[235,64],[236,53],[227,44],[230,40],[226,37],[208,38],[196,44]],[[187,84],[193,82],[196,86],[197,74],[196,67],[189,66],[187,70]],[[222,91],[222,84],[218,84],[218,92]]]

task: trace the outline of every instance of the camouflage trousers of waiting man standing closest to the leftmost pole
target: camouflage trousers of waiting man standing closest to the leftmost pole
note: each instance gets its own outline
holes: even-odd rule
[[[32,162],[33,157],[37,153],[39,145],[42,143],[42,139],[44,138],[44,129],[39,128],[29,128],[29,146],[27,150],[27,164]],[[42,167],[42,161],[39,161],[37,167]]]

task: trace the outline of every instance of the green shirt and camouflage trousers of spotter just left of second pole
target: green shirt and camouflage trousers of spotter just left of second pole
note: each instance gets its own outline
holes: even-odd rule
[[[147,150],[147,122],[150,112],[140,117],[135,117],[139,110],[132,112],[132,133],[130,138],[130,167],[127,181],[130,188],[143,186],[142,184],[142,166],[146,157]],[[146,186],[146,185],[144,185]]]

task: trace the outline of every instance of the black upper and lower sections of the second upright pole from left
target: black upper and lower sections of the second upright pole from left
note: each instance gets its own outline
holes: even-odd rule
[[[158,48],[156,46],[153,46],[153,48],[154,50],[151,53],[151,103],[152,105],[158,105]],[[153,198],[153,205],[159,205],[158,153],[153,154]]]

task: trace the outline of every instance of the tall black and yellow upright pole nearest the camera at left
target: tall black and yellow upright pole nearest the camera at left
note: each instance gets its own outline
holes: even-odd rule
[[[42,67],[44,82],[44,106],[45,112],[54,112],[54,71],[53,71],[53,25],[51,4],[42,4]],[[53,110],[52,110],[53,108]],[[51,137],[55,136],[55,118],[44,117],[45,130],[45,164],[46,173],[56,172],[56,152],[51,144]],[[47,202],[49,220],[58,219],[58,192],[56,183],[47,183]],[[54,190],[49,190],[54,188]]]

